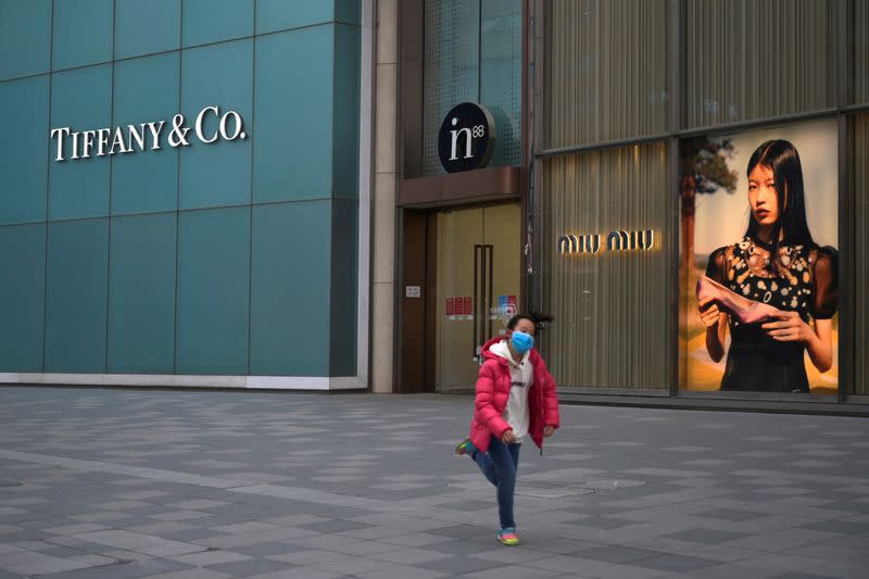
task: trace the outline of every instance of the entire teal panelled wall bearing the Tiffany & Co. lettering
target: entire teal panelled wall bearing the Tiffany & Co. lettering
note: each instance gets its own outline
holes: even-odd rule
[[[355,376],[360,20],[0,0],[0,373]]]

